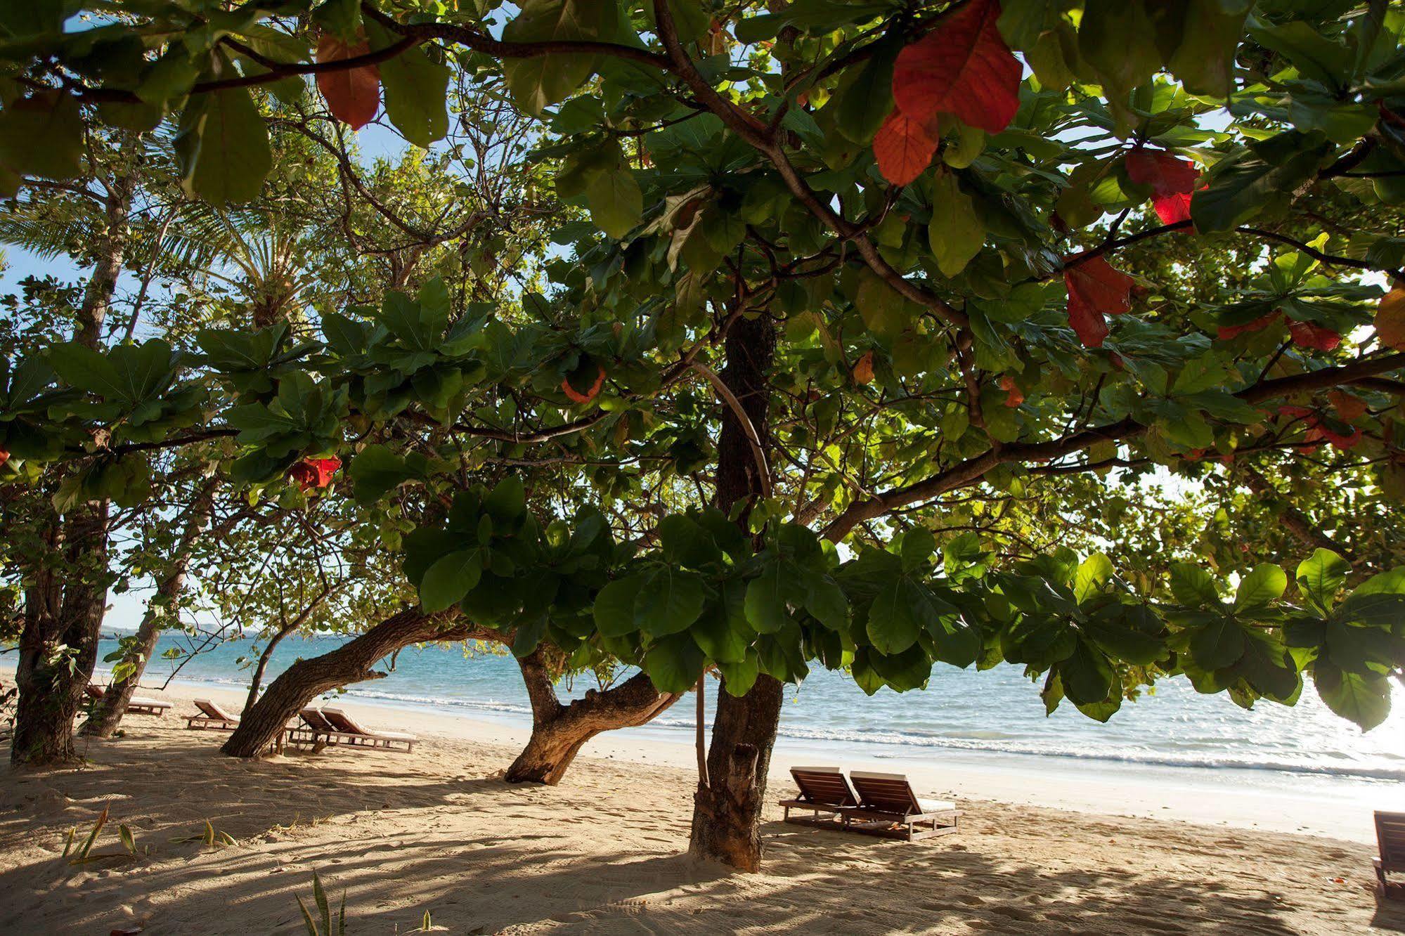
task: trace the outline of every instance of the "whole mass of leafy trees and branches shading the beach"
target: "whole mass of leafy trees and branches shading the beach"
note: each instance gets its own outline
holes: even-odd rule
[[[355,638],[251,697],[226,753],[414,642],[632,666],[653,714],[719,673],[691,849],[743,870],[781,686],[816,666],[873,694],[1014,665],[1100,721],[1172,677],[1388,713],[1392,4],[119,0],[0,24],[0,194],[91,270],[32,290],[0,358],[17,762],[76,756],[108,589],[190,568],[115,550],[132,517],[177,557],[214,544],[212,579],[282,564],[288,587],[222,597],[253,594],[270,639],[344,580],[309,620]],[[358,164],[377,119],[407,155]],[[138,212],[150,191],[180,198]],[[173,285],[138,329],[115,294],[148,243]],[[246,533],[207,534],[236,510]]]

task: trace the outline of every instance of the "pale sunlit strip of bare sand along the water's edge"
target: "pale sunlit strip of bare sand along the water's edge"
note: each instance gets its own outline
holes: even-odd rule
[[[164,691],[143,689],[140,694],[181,703],[209,697],[237,710],[246,691],[200,680],[173,680]],[[323,704],[341,706],[377,727],[412,731],[429,739],[520,748],[531,729],[527,715],[486,710],[469,715],[464,714],[468,706],[434,708],[398,701],[347,693],[334,703]],[[710,697],[710,704],[712,701]],[[679,707],[691,711],[693,703],[683,700]],[[580,756],[687,772],[695,770],[697,763],[691,729],[659,725],[604,732],[587,742]],[[1385,780],[954,748],[915,749],[787,735],[777,738],[767,800],[778,800],[781,791],[791,788],[790,766],[816,762],[903,772],[923,794],[940,798],[1290,832],[1360,843],[1374,842],[1373,810],[1405,810],[1405,784]],[[507,763],[504,760],[499,767],[506,769]]]

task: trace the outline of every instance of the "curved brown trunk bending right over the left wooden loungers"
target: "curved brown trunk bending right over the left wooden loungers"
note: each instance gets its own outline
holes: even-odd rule
[[[454,617],[455,611],[424,614],[419,609],[406,609],[330,654],[299,659],[268,684],[263,698],[244,710],[239,727],[221,750],[232,758],[259,756],[313,698],[339,686],[381,677],[382,673],[371,666],[410,644],[493,637],[490,631],[469,624],[454,625]]]

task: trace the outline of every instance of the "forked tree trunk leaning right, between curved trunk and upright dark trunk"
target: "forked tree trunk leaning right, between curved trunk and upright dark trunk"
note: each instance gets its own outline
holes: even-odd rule
[[[645,673],[636,673],[618,686],[590,690],[584,698],[562,706],[547,652],[538,646],[530,656],[517,661],[531,698],[531,738],[507,767],[507,783],[555,786],[580,748],[601,731],[646,724],[681,698],[674,693],[660,693]]]

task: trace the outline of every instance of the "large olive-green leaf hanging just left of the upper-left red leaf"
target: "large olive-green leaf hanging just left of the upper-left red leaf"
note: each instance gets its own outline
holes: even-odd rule
[[[222,208],[253,201],[273,167],[268,126],[246,87],[198,94],[185,105],[177,139],[181,183]]]

